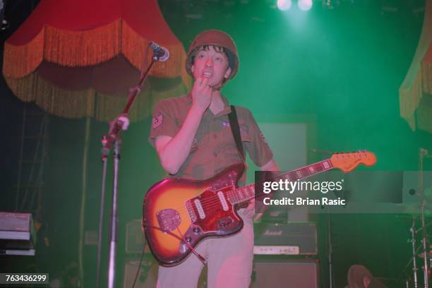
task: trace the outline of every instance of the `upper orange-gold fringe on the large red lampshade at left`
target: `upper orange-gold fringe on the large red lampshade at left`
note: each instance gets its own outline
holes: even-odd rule
[[[92,66],[108,61],[120,53],[124,54],[133,66],[143,71],[145,49],[150,40],[138,35],[126,21],[115,20],[99,28],[86,31],[66,31],[44,26],[42,31],[28,44],[4,46],[4,76],[23,78],[35,72],[42,61],[61,66]],[[162,44],[162,43],[161,43]],[[191,78],[184,69],[186,52],[179,44],[167,45],[170,57],[157,63],[150,76],[160,78],[181,77],[186,87],[191,86]],[[149,53],[150,63],[152,53]]]

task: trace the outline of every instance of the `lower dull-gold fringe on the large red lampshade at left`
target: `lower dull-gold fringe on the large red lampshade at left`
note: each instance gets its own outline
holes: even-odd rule
[[[11,90],[24,102],[35,102],[49,114],[65,118],[82,118],[91,116],[99,121],[111,121],[121,113],[126,97],[102,95],[95,90],[69,91],[62,90],[32,73],[20,79],[6,78]],[[129,113],[131,121],[138,121],[150,116],[152,107],[162,99],[184,94],[184,84],[180,81],[169,90],[155,91],[151,85],[145,85]]]

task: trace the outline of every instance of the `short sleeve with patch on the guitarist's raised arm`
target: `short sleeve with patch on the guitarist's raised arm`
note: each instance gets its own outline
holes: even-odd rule
[[[150,125],[149,143],[154,147],[157,136],[174,137],[178,130],[174,111],[170,109],[166,100],[158,102],[153,109],[152,124]]]

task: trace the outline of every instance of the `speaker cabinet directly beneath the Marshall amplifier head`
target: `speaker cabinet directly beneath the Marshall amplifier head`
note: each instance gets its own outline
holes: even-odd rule
[[[318,260],[258,259],[251,288],[318,288]]]

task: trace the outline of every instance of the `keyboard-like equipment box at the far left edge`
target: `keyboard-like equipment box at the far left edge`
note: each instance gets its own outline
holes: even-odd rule
[[[0,212],[0,255],[35,255],[36,232],[30,213]]]

